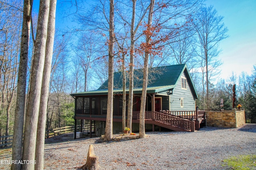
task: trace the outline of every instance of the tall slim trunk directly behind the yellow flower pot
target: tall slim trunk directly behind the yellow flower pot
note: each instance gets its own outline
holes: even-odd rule
[[[134,74],[134,23],[136,14],[136,0],[132,0],[132,22],[131,22],[131,45],[130,45],[130,70],[129,70],[129,97],[128,97],[128,115],[127,127],[132,133],[132,107],[133,107],[133,74]]]

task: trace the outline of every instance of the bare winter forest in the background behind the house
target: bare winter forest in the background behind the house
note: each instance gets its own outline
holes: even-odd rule
[[[58,27],[54,38],[54,51],[50,76],[46,129],[74,124],[74,99],[72,93],[97,89],[108,78],[108,1],[94,3],[77,1],[76,12],[69,12],[76,27]],[[222,16],[212,6],[204,6],[201,0],[156,2],[154,13],[154,53],[149,56],[148,67],[171,64],[188,65],[198,92],[197,106],[200,109],[232,108],[232,87],[236,84],[237,104],[242,104],[248,123],[256,123],[256,66],[252,75],[243,72],[232,74],[228,79],[218,75],[222,64],[218,57],[219,41],[228,37],[228,29]],[[72,6],[70,2],[66,6]],[[167,1],[166,1],[167,4]],[[144,39],[146,13],[149,2],[137,1],[136,34],[134,41],[134,68],[143,67],[143,55],[139,49]],[[20,0],[0,0],[0,136],[12,135],[16,88],[22,30],[22,8]],[[30,69],[34,53],[34,37],[38,13],[34,12],[29,49],[27,91],[30,88]],[[204,17],[212,22],[203,22]],[[130,67],[130,20],[132,2],[115,3],[115,71]],[[218,25],[218,27],[214,27]],[[206,60],[204,28],[209,32],[208,58]],[[207,29],[206,29],[207,30]],[[221,35],[221,37],[219,37]],[[166,38],[168,36],[168,38]],[[218,39],[216,40],[216,38]],[[124,57],[124,58],[123,58]],[[235,70],[235,68],[234,68]]]

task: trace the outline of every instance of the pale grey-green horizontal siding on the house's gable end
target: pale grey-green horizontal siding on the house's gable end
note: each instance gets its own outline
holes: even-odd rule
[[[187,89],[181,88],[181,78],[185,77],[187,82]],[[192,85],[188,81],[188,76],[182,73],[182,77],[178,80],[173,94],[170,95],[170,110],[171,111],[188,111],[195,110],[196,104],[194,96],[191,92]],[[180,106],[180,98],[183,98],[183,107]]]

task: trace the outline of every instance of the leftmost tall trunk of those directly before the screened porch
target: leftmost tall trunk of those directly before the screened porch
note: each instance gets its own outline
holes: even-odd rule
[[[113,85],[114,85],[114,0],[110,0],[108,43],[108,106],[104,141],[113,137]]]

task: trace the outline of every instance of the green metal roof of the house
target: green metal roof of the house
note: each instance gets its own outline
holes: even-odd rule
[[[186,64],[177,64],[170,66],[160,66],[148,69],[148,87],[147,93],[158,93],[167,91],[176,86],[178,80],[185,72],[188,76],[188,81],[192,84],[192,93],[195,98],[198,97],[196,89],[192,82],[191,76],[188,72]],[[126,76],[126,93],[129,89],[129,78]],[[143,82],[143,70],[134,70],[134,94],[142,93],[142,82]],[[108,80],[98,88],[98,90],[93,90],[89,92],[81,92],[71,94],[71,96],[94,96],[94,95],[107,95],[108,94]],[[114,73],[114,94],[122,94],[122,72]]]

